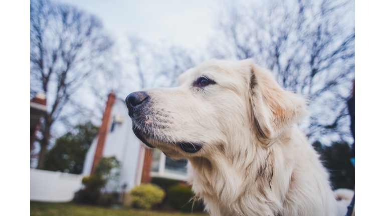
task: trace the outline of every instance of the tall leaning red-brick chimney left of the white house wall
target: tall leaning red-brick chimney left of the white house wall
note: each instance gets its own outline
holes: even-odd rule
[[[114,105],[115,98],[115,92],[111,90],[111,92],[108,94],[106,109],[103,113],[102,124],[99,128],[99,138],[98,143],[96,145],[94,160],[92,162],[91,173],[95,172],[96,166],[98,166],[100,158],[102,158],[103,156],[104,143],[106,141],[106,136],[108,132],[108,122],[110,121],[111,110],[112,106]]]

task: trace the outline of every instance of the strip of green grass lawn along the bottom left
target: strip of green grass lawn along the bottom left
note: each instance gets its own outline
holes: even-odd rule
[[[92,205],[79,205],[71,202],[52,203],[52,202],[35,202],[31,201],[31,216],[208,216],[204,213],[182,213],[179,211],[152,211],[138,210],[134,208],[124,207],[119,209],[99,207]]]

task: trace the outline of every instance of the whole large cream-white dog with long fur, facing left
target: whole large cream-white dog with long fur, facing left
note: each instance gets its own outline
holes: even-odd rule
[[[190,161],[211,215],[345,215],[352,192],[335,195],[297,126],[305,99],[253,60],[205,61],[178,87],[133,92],[126,103],[143,143]]]

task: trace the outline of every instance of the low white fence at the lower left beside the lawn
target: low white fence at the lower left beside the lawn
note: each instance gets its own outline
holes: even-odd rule
[[[30,173],[30,199],[34,201],[68,202],[82,187],[83,175],[41,169]]]

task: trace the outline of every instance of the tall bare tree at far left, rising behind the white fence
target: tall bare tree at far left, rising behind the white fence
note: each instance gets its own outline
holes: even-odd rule
[[[37,139],[41,150],[37,168],[52,137],[52,126],[64,116],[72,96],[95,73],[105,71],[113,42],[93,15],[49,0],[31,0],[31,95],[45,91],[47,115]]]

